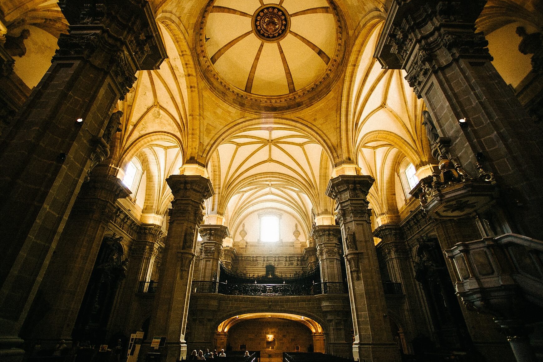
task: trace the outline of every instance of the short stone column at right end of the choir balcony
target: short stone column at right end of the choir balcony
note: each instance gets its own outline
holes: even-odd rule
[[[341,274],[341,237],[339,226],[337,225],[318,225],[311,231],[311,237],[315,240],[317,246],[317,256],[320,264],[320,281],[342,282]],[[326,289],[326,284],[324,289]],[[334,285],[332,287],[332,285]],[[335,288],[336,284],[330,287]],[[323,290],[326,293],[326,290]]]

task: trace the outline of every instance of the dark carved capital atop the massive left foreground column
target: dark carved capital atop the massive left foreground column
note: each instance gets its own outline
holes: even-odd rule
[[[134,73],[158,69],[167,58],[153,11],[147,1],[61,0],[70,28],[59,37],[54,60],[86,59],[111,72],[122,96]]]

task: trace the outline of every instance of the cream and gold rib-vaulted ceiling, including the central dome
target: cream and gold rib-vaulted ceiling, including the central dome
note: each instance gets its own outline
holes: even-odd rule
[[[244,215],[274,208],[307,233],[312,215],[332,214],[324,190],[342,163],[375,178],[369,199],[378,224],[400,219],[409,207],[400,167],[422,166],[430,156],[424,104],[402,71],[381,69],[373,58],[387,1],[150,3],[168,59],[157,71],[138,72],[119,102],[124,116],[113,165],[124,168],[134,157],[141,163],[145,186],[139,209],[131,208],[136,218],[158,223],[172,197],[165,179],[184,162],[205,160],[216,192],[206,211],[224,216],[231,229]],[[501,52],[495,65],[508,82],[529,67],[512,31],[517,25],[541,31],[537,4],[490,0],[477,21],[491,52]],[[268,16],[269,8],[281,10],[286,23],[279,12]],[[67,22],[56,0],[4,0],[0,10],[9,35],[30,29],[15,72],[31,88]],[[295,107],[279,104],[289,97]],[[268,107],[253,107],[251,99]]]

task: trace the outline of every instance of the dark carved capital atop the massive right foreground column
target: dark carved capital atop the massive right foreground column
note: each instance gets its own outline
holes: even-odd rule
[[[406,69],[406,80],[420,98],[432,72],[454,60],[492,60],[484,35],[475,33],[475,20],[485,3],[395,1],[375,56],[383,68]]]

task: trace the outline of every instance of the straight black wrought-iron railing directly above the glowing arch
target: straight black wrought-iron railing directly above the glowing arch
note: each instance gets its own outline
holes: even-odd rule
[[[219,293],[225,295],[317,295],[344,294],[347,287],[343,282],[313,284],[229,284],[223,282],[193,281],[193,293]]]

